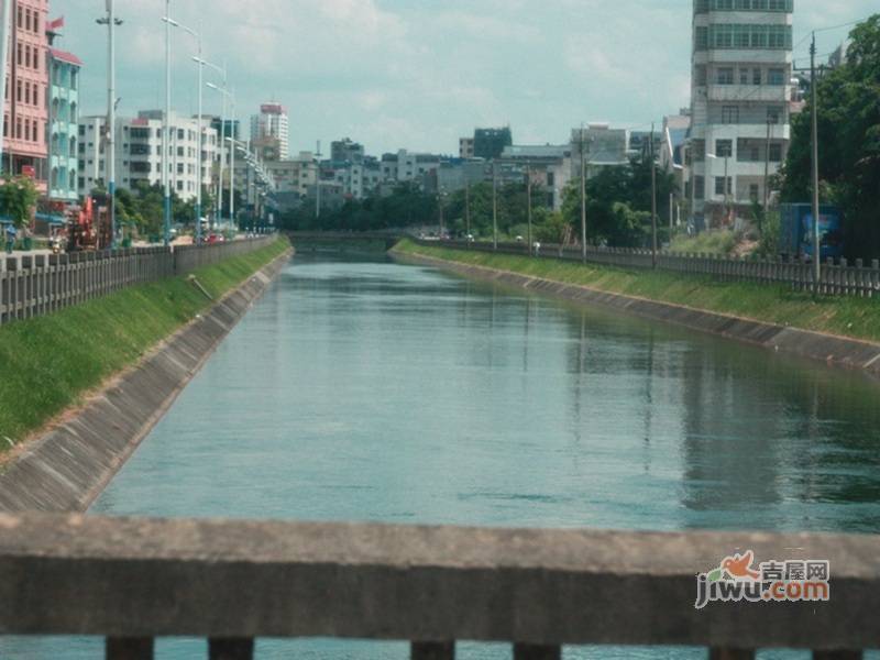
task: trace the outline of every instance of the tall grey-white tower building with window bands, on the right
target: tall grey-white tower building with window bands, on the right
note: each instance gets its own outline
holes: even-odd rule
[[[763,202],[766,174],[785,157],[793,0],[694,0],[693,9],[689,193],[697,221],[717,227]]]

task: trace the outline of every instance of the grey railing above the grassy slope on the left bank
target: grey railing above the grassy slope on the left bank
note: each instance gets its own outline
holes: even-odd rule
[[[212,245],[139,248],[0,260],[0,324],[106,296],[127,286],[189,273],[271,244],[260,237]]]

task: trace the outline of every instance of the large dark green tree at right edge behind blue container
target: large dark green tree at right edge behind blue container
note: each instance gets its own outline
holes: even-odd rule
[[[820,197],[844,212],[851,257],[880,254],[877,195],[880,190],[880,14],[850,33],[846,62],[816,87]],[[812,197],[812,106],[792,119],[792,140],[781,169],[782,200]]]

